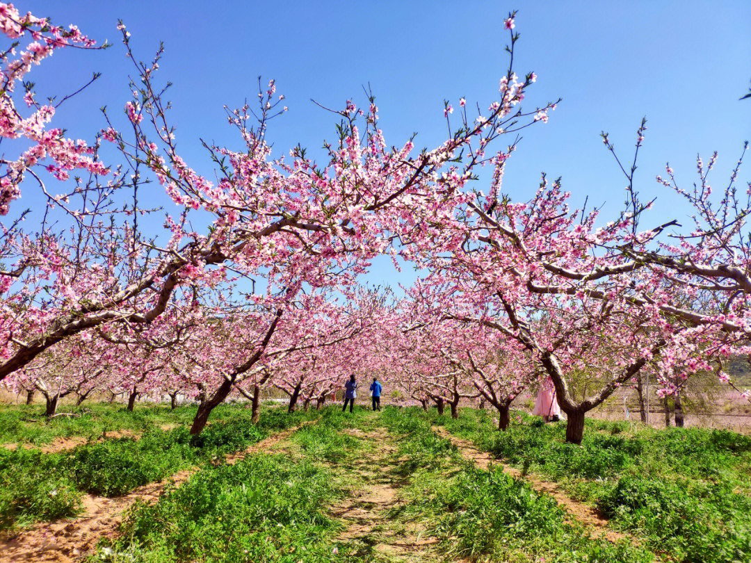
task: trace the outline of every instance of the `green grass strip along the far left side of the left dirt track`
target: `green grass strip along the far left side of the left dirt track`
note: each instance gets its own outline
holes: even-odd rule
[[[0,448],[0,529],[74,516],[81,492],[123,495],[182,469],[221,462],[228,453],[316,416],[315,411],[274,409],[252,425],[243,409],[198,436],[179,426],[168,432],[150,429],[138,440],[113,438],[61,453]]]

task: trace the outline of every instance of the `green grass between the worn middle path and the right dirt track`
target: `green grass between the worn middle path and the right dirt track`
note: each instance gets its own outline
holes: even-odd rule
[[[403,472],[411,474],[403,513],[423,520],[448,557],[472,561],[652,561],[625,540],[593,538],[548,495],[499,468],[484,471],[461,459],[417,408],[385,409],[382,420],[400,436]]]

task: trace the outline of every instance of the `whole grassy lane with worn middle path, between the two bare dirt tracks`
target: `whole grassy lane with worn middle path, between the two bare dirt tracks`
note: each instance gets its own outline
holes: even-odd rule
[[[278,453],[195,474],[95,561],[590,561],[653,554],[593,539],[523,480],[464,462],[415,410],[327,409]]]

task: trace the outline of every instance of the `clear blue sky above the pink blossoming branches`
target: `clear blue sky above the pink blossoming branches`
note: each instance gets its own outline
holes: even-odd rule
[[[739,101],[751,79],[751,2],[18,2],[21,11],[75,23],[110,50],[57,53],[44,62],[46,94],[65,94],[92,71],[104,77],[60,108],[56,123],[71,136],[91,139],[107,104],[119,113],[128,100],[129,62],[116,20],[148,59],[158,41],[166,53],[161,78],[174,83],[179,147],[185,160],[211,176],[198,138],[237,143],[222,106],[255,96],[258,74],[276,78],[290,111],[272,122],[270,138],[286,152],[298,142],[311,149],[333,139],[333,119],[310,98],[341,107],[363,104],[361,85],[377,98],[388,143],[400,145],[418,131],[417,145],[444,139],[442,101],[461,96],[487,107],[505,69],[508,35],[502,21],[517,9],[515,67],[535,71],[529,109],[562,97],[547,125],[528,130],[505,175],[505,191],[526,200],[541,171],[562,176],[575,203],[623,200],[623,176],[602,146],[611,134],[629,154],[642,116],[649,120],[638,186],[659,195],[655,223],[685,218],[676,198],[653,181],[670,161],[684,185],[694,179],[695,155],[719,151],[714,183],[727,181],[743,140],[751,137],[751,100]],[[52,91],[52,80],[66,86]],[[59,119],[59,122],[57,121]],[[235,144],[234,146],[239,146]],[[751,163],[740,179],[751,178]],[[30,186],[31,187],[31,186]],[[157,190],[157,188],[155,188]],[[23,206],[33,206],[29,189]],[[161,201],[157,194],[155,200]],[[170,209],[170,208],[167,208]],[[683,215],[682,215],[683,214]],[[161,222],[161,221],[157,221]],[[32,225],[29,225],[29,227]],[[379,260],[370,281],[409,283]]]

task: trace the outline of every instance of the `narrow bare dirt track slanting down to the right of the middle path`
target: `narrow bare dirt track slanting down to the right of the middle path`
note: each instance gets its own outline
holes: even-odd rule
[[[532,485],[532,488],[535,489],[535,491],[552,496],[555,498],[556,502],[566,510],[566,513],[569,514],[572,520],[576,520],[577,522],[592,528],[593,536],[604,537],[606,540],[614,543],[623,539],[633,540],[628,534],[623,534],[609,528],[608,519],[602,516],[596,508],[570,498],[569,495],[566,495],[566,492],[560,488],[558,483],[541,480],[530,474],[523,474],[519,469],[499,462],[499,460],[490,455],[490,453],[478,450],[471,441],[457,438],[457,436],[452,435],[451,432],[448,432],[448,430],[442,426],[433,426],[433,431],[442,438],[451,441],[451,443],[460,451],[464,459],[472,460],[479,468],[487,469],[491,464],[499,465],[503,468],[504,473],[526,480],[527,483]]]

